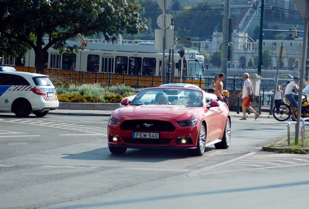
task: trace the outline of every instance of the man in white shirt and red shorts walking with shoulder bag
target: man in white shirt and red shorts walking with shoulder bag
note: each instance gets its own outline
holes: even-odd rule
[[[243,82],[243,88],[242,88],[242,92],[240,92],[239,94],[237,94],[238,97],[240,97],[240,95],[242,95],[242,118],[240,120],[246,120],[246,108],[248,110],[250,110],[251,112],[253,112],[256,117],[255,119],[258,118],[259,114],[251,107],[251,102],[249,101],[249,95],[253,95],[253,89],[252,89],[252,83],[251,80],[249,79],[249,74],[244,73],[242,76],[242,79],[244,80]]]

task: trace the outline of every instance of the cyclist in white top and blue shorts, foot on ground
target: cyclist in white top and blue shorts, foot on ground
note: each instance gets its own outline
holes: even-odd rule
[[[295,118],[295,110],[297,107],[297,102],[296,100],[298,100],[298,94],[294,94],[293,90],[296,90],[297,92],[299,92],[299,87],[297,86],[298,82],[299,82],[299,77],[295,76],[293,78],[293,81],[291,81],[286,89],[285,89],[285,97],[290,101],[290,103],[292,104],[292,120],[296,121]],[[307,94],[305,92],[302,92],[303,95],[307,96]]]

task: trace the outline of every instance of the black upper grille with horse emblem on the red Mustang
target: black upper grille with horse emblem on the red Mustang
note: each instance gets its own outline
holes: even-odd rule
[[[121,124],[120,129],[128,131],[175,131],[175,127],[170,122],[160,120],[126,120]]]

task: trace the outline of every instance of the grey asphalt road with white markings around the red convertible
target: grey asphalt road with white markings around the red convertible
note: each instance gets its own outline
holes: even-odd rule
[[[261,146],[286,122],[232,119],[231,146],[107,148],[108,117],[0,115],[1,209],[285,209],[307,207],[309,156]]]

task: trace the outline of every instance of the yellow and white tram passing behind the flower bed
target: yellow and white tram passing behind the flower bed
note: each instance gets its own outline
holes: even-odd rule
[[[81,45],[80,42],[68,42],[69,45]],[[203,78],[204,83],[204,56],[199,55],[197,50],[184,48],[185,55],[181,57],[174,53],[174,78],[186,76],[194,84],[200,84],[198,78]],[[166,50],[165,66],[168,72],[168,57]],[[172,56],[171,56],[172,57]],[[137,77],[149,76],[149,81],[154,77],[155,85],[160,85],[162,80],[163,50],[154,48],[154,43],[137,44],[110,44],[110,43],[87,43],[86,50],[78,53],[60,54],[59,50],[50,48],[44,55],[44,74],[66,74],[85,76],[85,82],[93,83],[98,75],[98,82],[121,83],[118,78],[124,76],[127,84],[136,84]],[[181,64],[183,63],[182,67]],[[24,57],[4,59],[0,56],[0,65],[14,66],[17,71],[35,72],[35,54],[31,50]],[[182,71],[182,72],[181,72]],[[39,72],[43,73],[43,72]],[[102,76],[103,75],[103,76]],[[86,79],[89,78],[90,79]],[[67,76],[66,76],[67,77]],[[193,78],[193,79],[192,79]],[[104,80],[105,79],[105,80]],[[140,85],[149,85],[147,79],[140,79]]]

